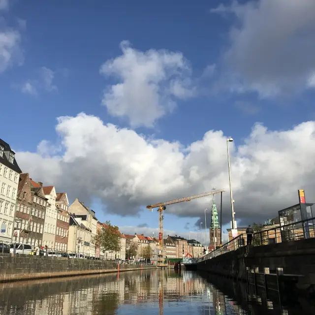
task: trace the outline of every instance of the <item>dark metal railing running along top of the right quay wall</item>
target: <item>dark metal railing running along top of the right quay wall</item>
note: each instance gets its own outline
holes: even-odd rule
[[[261,246],[297,241],[315,237],[315,218],[298,221],[282,226],[264,229],[252,234],[252,240],[246,233],[240,234],[213,252],[198,259],[198,262],[211,259],[226,252],[233,252],[246,245]]]

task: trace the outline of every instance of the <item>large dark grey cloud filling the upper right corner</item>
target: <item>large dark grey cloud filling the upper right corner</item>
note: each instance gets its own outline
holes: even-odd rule
[[[310,85],[315,73],[314,0],[233,0],[211,11],[236,17],[223,57],[232,91],[272,97]]]

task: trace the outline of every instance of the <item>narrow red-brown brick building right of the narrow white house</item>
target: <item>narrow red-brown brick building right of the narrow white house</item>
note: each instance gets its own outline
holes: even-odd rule
[[[56,208],[58,213],[56,221],[55,248],[61,252],[66,252],[68,246],[70,221],[68,206],[69,202],[66,192],[57,192]]]

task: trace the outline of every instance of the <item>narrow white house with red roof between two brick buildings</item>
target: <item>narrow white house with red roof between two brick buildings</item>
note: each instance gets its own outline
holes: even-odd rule
[[[53,249],[55,245],[56,236],[56,221],[57,221],[57,209],[56,209],[56,189],[54,186],[45,186],[43,191],[47,200],[46,217],[44,224],[43,245],[47,245],[49,249]]]

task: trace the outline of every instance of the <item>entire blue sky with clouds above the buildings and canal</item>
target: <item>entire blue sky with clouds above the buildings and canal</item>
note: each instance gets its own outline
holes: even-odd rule
[[[0,0],[0,137],[33,180],[147,235],[146,205],[213,187],[230,225],[233,137],[237,224],[264,222],[297,189],[314,201],[314,56],[314,0]],[[167,207],[165,233],[196,235],[205,208]]]

